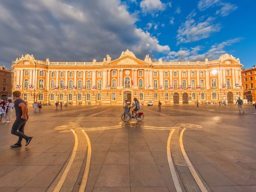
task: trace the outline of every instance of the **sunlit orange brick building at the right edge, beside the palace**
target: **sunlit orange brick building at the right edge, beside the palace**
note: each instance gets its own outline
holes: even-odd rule
[[[242,86],[244,89],[244,99],[254,102],[256,99],[256,66],[242,70]]]

